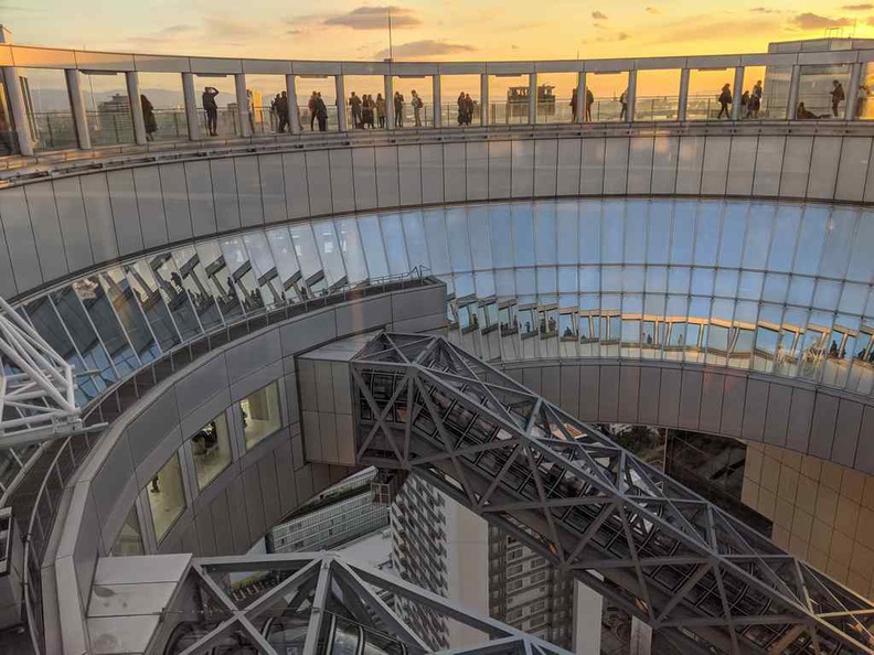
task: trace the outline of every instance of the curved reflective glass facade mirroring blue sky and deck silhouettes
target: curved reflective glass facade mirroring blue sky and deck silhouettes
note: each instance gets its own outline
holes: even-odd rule
[[[749,201],[562,200],[359,214],[204,240],[23,313],[79,401],[266,308],[425,267],[487,359],[670,359],[874,389],[874,216]]]

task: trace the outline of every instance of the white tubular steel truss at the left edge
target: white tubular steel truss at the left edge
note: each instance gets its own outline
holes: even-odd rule
[[[82,429],[73,371],[0,298],[0,448]]]

